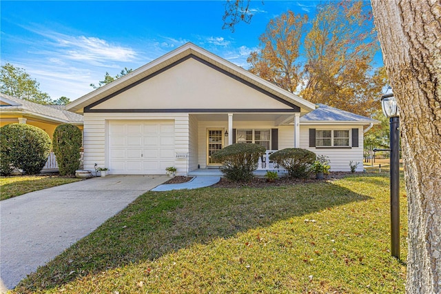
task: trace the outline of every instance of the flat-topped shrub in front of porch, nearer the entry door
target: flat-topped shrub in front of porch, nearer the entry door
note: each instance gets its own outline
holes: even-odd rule
[[[254,175],[258,159],[265,153],[265,147],[258,144],[239,143],[229,145],[212,155],[222,161],[222,172],[234,182],[248,182]]]

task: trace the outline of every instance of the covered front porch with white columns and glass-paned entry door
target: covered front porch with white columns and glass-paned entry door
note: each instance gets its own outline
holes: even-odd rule
[[[261,171],[258,173],[277,169],[269,160],[269,155],[300,145],[299,115],[298,112],[189,114],[189,148],[187,157],[176,157],[178,175],[213,175],[216,173],[213,169],[218,169],[220,163],[212,159],[212,154],[236,143],[265,146],[267,152],[258,162],[258,170]],[[218,175],[221,175],[220,171]]]

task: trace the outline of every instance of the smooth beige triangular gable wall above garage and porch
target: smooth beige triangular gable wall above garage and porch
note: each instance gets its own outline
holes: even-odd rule
[[[194,59],[161,72],[92,109],[291,109]]]

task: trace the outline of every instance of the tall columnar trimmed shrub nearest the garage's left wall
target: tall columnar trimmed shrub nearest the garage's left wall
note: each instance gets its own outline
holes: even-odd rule
[[[80,149],[82,142],[81,130],[72,124],[61,124],[54,130],[55,157],[60,175],[75,175],[80,167]]]

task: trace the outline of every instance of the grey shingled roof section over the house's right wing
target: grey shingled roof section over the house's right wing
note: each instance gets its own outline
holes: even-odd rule
[[[380,121],[355,113],[317,104],[318,108],[300,117],[300,124],[380,124]]]

